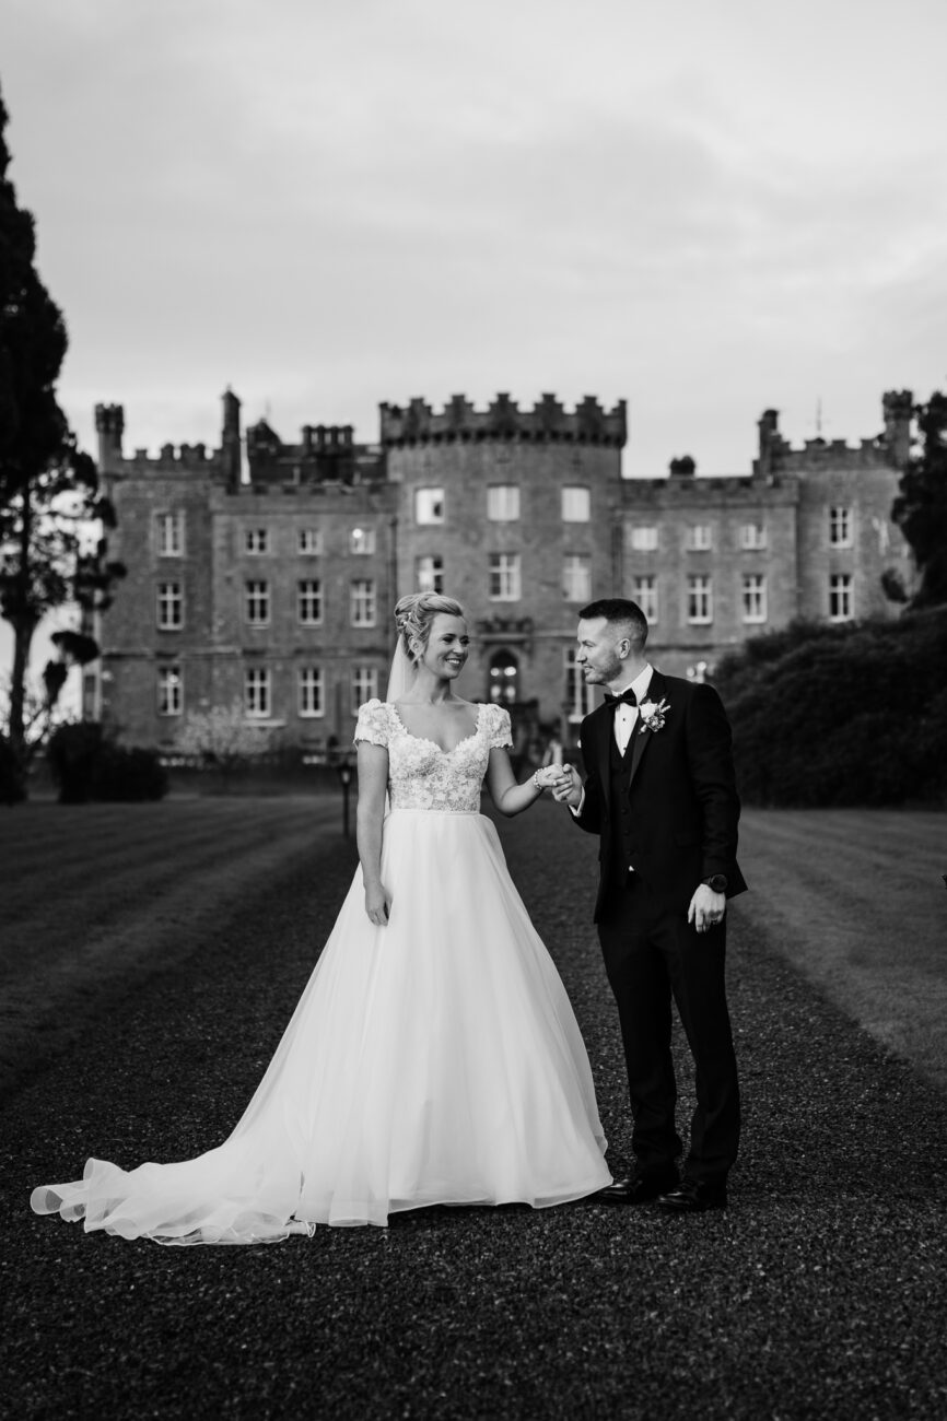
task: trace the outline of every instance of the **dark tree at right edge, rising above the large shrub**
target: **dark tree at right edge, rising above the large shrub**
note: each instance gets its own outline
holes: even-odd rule
[[[910,543],[919,585],[911,607],[947,603],[947,395],[914,409],[920,452],[907,463],[892,517]]]

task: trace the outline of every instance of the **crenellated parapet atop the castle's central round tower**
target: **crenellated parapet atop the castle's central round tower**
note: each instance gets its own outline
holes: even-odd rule
[[[606,411],[586,395],[569,412],[555,395],[543,395],[532,409],[520,409],[509,395],[498,395],[486,409],[475,409],[464,395],[454,395],[435,414],[424,399],[407,405],[380,405],[381,443],[451,443],[456,441],[525,441],[536,443],[583,443],[624,448],[627,441],[626,402]]]

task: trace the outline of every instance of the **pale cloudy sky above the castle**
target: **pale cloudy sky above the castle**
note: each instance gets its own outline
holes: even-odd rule
[[[628,401],[749,466],[947,381],[944,0],[6,0],[11,178],[127,448]]]

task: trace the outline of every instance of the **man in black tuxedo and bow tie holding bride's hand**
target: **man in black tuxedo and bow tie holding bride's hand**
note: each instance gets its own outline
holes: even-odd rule
[[[606,702],[582,722],[584,789],[574,770],[555,791],[599,834],[594,918],[619,1006],[636,1168],[601,1191],[678,1214],[727,1205],[739,1140],[737,1060],[724,986],[727,899],[737,867],[731,733],[708,686],[664,676],[644,657],[636,603],[601,598],[579,614],[576,661]],[[674,1123],[671,999],[695,1064],[697,1108],[683,1178]]]

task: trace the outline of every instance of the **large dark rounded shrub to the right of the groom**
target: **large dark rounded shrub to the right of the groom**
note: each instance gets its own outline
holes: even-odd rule
[[[721,664],[741,794],[776,806],[947,796],[947,611],[795,625]]]

